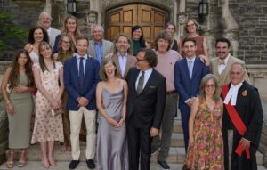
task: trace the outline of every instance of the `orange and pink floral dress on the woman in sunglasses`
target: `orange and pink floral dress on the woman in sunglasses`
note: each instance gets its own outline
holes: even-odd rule
[[[190,170],[223,170],[223,101],[209,109],[200,101],[193,126],[194,142],[189,145],[185,164]]]

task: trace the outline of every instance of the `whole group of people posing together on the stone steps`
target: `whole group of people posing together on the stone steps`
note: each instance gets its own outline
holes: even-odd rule
[[[195,20],[186,22],[187,35],[178,41],[174,22],[167,23],[154,49],[141,26],[133,27],[132,38],[120,33],[112,43],[103,39],[101,25],[93,26],[89,41],[74,16],[66,17],[62,31],[51,28],[51,21],[49,13],[40,14],[28,44],[4,74],[8,168],[14,166],[14,149],[21,149],[19,166],[25,166],[26,150],[36,142],[44,168],[56,166],[58,141],[71,151],[69,169],[75,169],[84,118],[89,169],[95,168],[96,155],[100,170],[149,170],[150,155],[158,149],[158,165],[170,169],[166,158],[179,98],[183,169],[257,169],[261,101],[249,85],[245,62],[231,56],[227,38],[217,39],[216,57],[209,60]]]

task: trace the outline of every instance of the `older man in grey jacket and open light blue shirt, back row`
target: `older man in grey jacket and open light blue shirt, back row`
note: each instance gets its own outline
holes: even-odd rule
[[[93,25],[92,36],[93,40],[89,41],[88,53],[101,63],[107,54],[113,53],[114,45],[103,38],[104,28],[101,25]]]

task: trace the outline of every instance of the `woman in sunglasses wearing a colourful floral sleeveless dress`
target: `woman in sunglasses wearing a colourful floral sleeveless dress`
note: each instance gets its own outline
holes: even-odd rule
[[[203,77],[193,102],[189,122],[189,147],[185,165],[190,170],[223,170],[223,100],[214,75]]]

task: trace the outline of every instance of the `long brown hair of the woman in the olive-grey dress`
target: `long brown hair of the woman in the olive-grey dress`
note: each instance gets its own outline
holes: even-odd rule
[[[24,53],[27,56],[27,62],[25,64],[25,74],[26,74],[27,79],[28,79],[28,85],[27,86],[34,86],[35,85],[34,76],[33,76],[33,72],[31,69],[32,61],[29,58],[28,52],[24,49],[20,49],[18,51],[18,53],[16,53],[16,55],[13,57],[11,74],[10,74],[10,77],[8,80],[10,83],[10,85],[8,86],[9,89],[13,89],[15,86],[17,86],[19,84],[20,68],[19,68],[18,60],[19,60],[19,57],[22,53]]]

